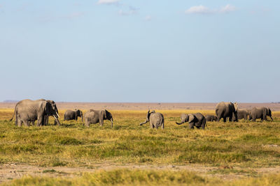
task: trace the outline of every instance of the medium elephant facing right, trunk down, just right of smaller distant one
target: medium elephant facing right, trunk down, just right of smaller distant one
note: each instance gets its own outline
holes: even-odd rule
[[[90,127],[91,123],[99,123],[103,126],[104,120],[111,121],[111,127],[113,128],[113,116],[112,114],[105,110],[94,110],[90,109],[85,113],[85,125]]]

